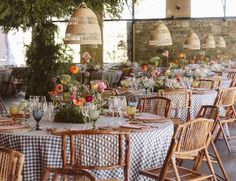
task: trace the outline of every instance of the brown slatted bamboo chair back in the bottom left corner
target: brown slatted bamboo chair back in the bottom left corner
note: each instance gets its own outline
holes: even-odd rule
[[[7,148],[0,148],[0,180],[21,181],[24,155]]]

